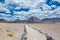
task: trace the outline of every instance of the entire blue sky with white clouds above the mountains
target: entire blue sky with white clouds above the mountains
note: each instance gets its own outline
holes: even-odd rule
[[[31,16],[36,16],[41,20],[60,18],[59,0],[35,0],[34,2],[31,0],[0,0],[0,15],[3,16],[2,19],[9,19],[9,21],[17,18],[26,20]]]

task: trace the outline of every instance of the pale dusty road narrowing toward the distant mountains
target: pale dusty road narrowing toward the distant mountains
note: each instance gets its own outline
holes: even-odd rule
[[[39,33],[38,30],[29,27],[28,25],[25,27],[27,30],[27,40],[46,40],[46,36],[42,33]]]

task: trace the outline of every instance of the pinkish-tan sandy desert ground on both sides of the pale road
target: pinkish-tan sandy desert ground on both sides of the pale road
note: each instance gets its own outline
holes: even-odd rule
[[[20,40],[24,32],[25,24],[17,23],[0,23],[0,39],[1,40]],[[60,40],[60,24],[27,24],[48,33],[55,40]],[[8,30],[8,31],[6,31]],[[13,36],[9,36],[11,33]]]

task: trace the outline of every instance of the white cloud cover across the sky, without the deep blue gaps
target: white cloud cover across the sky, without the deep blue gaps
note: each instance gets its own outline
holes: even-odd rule
[[[60,7],[51,11],[51,7],[56,8],[57,6],[56,5],[49,6],[45,4],[45,0],[26,0],[26,1],[25,0],[5,0],[5,2],[6,3],[4,6],[7,6],[9,3],[18,4],[18,6],[15,8],[16,10],[19,8],[30,8],[28,12],[14,11],[13,16],[11,16],[10,14],[4,14],[4,13],[0,14],[0,18],[3,17],[6,21],[14,21],[16,19],[27,20],[32,16],[35,16],[41,20],[44,18],[60,18]],[[9,9],[4,7],[2,4],[0,5],[1,5],[0,11],[11,13]],[[42,7],[43,11],[37,8],[37,6]]]

